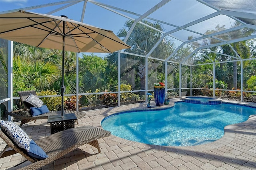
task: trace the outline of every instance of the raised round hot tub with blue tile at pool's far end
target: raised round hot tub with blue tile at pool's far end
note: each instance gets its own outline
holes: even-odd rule
[[[221,104],[222,99],[216,97],[206,97],[206,96],[184,96],[181,97],[187,103],[196,103],[204,105],[218,105]]]

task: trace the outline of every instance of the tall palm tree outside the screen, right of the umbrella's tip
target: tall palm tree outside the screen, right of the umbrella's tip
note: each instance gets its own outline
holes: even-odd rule
[[[154,27],[160,31],[163,31],[163,27],[158,22],[152,23],[147,20],[142,20],[143,23]],[[134,21],[128,20],[125,22],[125,28],[118,31],[117,36],[124,40],[130,31]],[[127,44],[131,46],[130,49],[125,49],[126,52],[136,53],[139,55],[147,55],[152,47],[160,40],[162,36],[161,32],[158,32],[152,28],[144,26],[142,24],[136,24],[135,28],[132,30],[130,37],[127,40]],[[161,43],[156,47],[156,49],[150,54],[151,57],[156,58],[166,58],[170,54],[170,43],[166,39],[163,39]],[[127,55],[121,53],[121,59],[125,59],[126,62],[121,62],[122,75],[129,74],[132,85],[134,87],[134,75],[140,77],[140,89],[145,89],[145,58],[137,57],[134,55]],[[107,60],[109,63],[117,65],[118,53],[112,53],[108,55]],[[159,61],[156,61],[159,62]],[[135,74],[135,71],[137,72]],[[122,76],[121,75],[121,76]]]

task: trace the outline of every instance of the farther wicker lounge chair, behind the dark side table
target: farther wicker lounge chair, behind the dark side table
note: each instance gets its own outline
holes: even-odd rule
[[[26,102],[24,102],[24,100],[28,98],[30,93],[37,96],[36,91],[34,91],[34,90],[18,92],[18,94],[20,96],[20,100],[22,101],[22,103],[24,105],[24,110],[30,110],[30,105],[28,105]],[[76,115],[77,119],[81,119],[82,117],[84,117],[86,115],[86,113],[78,112],[78,111],[64,111],[64,113],[65,114],[66,113],[74,113]],[[36,119],[48,119],[48,116],[50,116],[50,115],[61,115],[61,111],[50,111],[49,113],[44,113],[42,115],[38,115],[35,117],[32,117],[31,115],[19,115],[15,111],[5,112],[5,115],[6,115],[6,117],[8,117],[8,115],[10,115],[12,117],[15,117],[16,119],[21,119],[21,122],[20,122],[20,127],[21,127],[25,123],[28,123],[30,121],[36,121]],[[77,120],[76,120],[76,123],[78,124]]]

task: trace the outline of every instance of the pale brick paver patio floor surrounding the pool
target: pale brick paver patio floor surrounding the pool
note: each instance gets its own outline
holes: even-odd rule
[[[170,107],[174,101],[172,99]],[[227,102],[227,101],[226,101]],[[237,101],[228,101],[241,103]],[[254,105],[256,103],[245,103]],[[154,107],[154,103],[151,104]],[[158,107],[159,108],[159,107]],[[86,111],[84,118],[79,119],[78,126],[92,125],[100,127],[100,121],[113,113],[147,109],[146,103],[122,107]],[[36,140],[50,135],[50,124],[47,120],[27,123],[22,128],[30,138]],[[90,145],[84,145],[66,154],[62,158],[40,169],[48,170],[256,170],[256,115],[248,121],[225,127],[225,134],[220,140],[198,146],[155,146],[125,140],[111,135],[98,140],[101,153]],[[0,151],[5,147],[0,138]],[[6,170],[25,160],[20,154],[0,159],[0,170]],[[24,164],[29,164],[27,161]],[[24,166],[21,164],[20,167]]]

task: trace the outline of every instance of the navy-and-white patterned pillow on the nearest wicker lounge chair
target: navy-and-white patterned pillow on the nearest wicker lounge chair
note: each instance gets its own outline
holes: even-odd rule
[[[32,140],[28,137],[28,134],[22,130],[18,125],[15,125],[11,121],[2,121],[0,123],[1,129],[9,136],[9,138],[17,144],[20,148],[29,151],[29,142]]]

